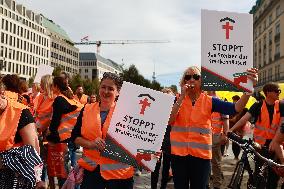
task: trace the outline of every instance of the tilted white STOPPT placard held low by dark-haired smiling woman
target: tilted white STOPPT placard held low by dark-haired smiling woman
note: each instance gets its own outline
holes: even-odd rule
[[[102,156],[154,171],[175,97],[123,82]]]

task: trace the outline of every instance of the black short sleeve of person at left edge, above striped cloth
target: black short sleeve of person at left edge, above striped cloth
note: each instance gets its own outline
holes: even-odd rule
[[[22,114],[18,123],[18,128],[17,128],[17,132],[16,132],[16,136],[15,136],[15,143],[19,143],[22,141],[22,138],[19,134],[19,131],[24,128],[25,126],[27,126],[30,123],[34,123],[34,118],[30,112],[29,109],[23,109],[22,110]]]

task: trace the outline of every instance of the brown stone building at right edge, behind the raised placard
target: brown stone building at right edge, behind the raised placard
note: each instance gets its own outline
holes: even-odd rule
[[[254,67],[258,88],[270,81],[284,82],[284,1],[257,0],[254,18]]]

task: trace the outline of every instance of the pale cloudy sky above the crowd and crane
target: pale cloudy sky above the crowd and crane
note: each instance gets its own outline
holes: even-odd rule
[[[201,61],[201,9],[248,13],[255,0],[16,0],[60,25],[74,42],[169,40],[170,43],[102,45],[100,55],[146,78],[178,85],[183,71]],[[77,46],[96,52],[96,46]]]

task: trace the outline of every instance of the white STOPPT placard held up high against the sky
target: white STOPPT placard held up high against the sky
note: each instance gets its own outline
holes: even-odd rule
[[[201,11],[202,88],[206,91],[248,91],[253,83],[253,16]]]

